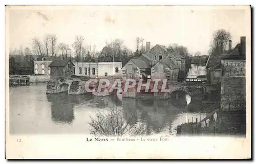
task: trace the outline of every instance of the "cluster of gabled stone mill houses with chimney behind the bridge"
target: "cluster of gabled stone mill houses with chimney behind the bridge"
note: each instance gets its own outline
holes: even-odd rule
[[[150,48],[150,42],[147,42],[145,54],[131,59],[124,65],[122,68],[124,77],[167,78],[178,81],[179,75],[184,76],[182,73],[185,69],[184,57],[168,52],[164,45],[156,44],[152,49],[147,50],[148,48]]]

